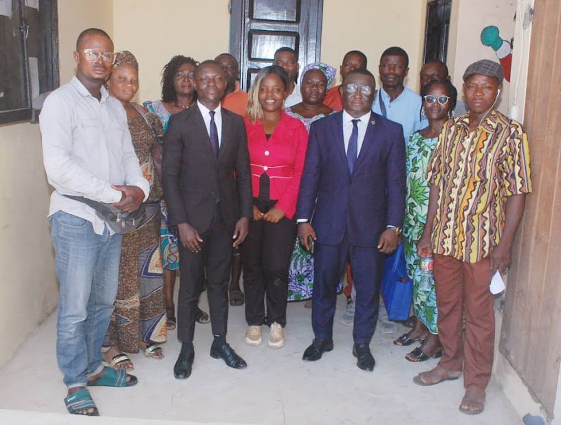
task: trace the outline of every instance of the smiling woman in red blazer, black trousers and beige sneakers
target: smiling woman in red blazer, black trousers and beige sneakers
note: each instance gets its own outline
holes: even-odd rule
[[[285,345],[294,213],[308,142],[305,126],[283,110],[287,85],[283,68],[261,69],[250,89],[244,117],[253,187],[253,221],[241,245],[248,322],[245,342],[260,345],[261,328],[267,324],[271,327],[268,344],[273,348]]]

